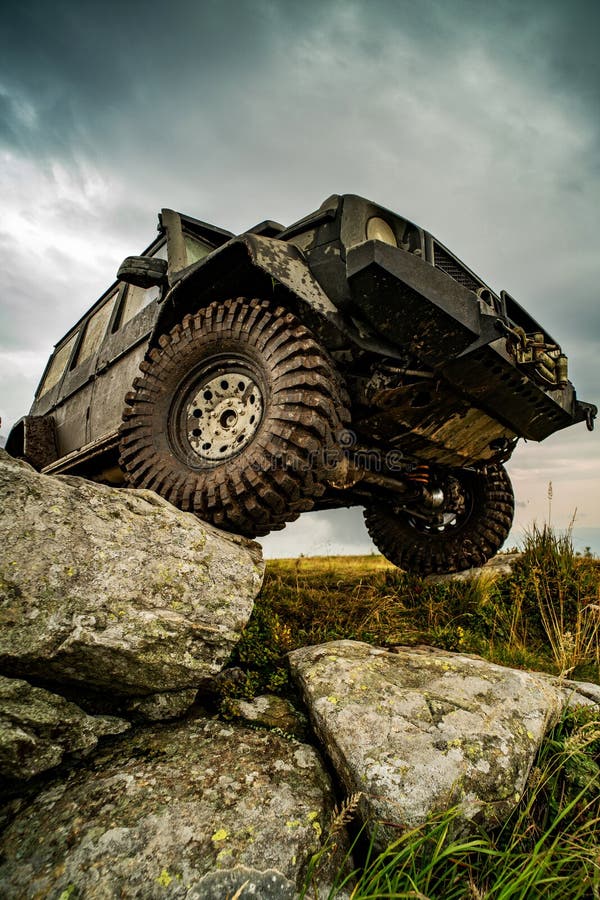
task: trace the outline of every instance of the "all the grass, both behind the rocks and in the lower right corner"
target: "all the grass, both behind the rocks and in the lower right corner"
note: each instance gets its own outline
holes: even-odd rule
[[[236,697],[274,692],[293,698],[285,655],[308,644],[350,638],[382,647],[429,644],[489,660],[600,683],[600,564],[573,551],[570,535],[534,528],[508,576],[493,570],[467,581],[431,583],[381,556],[269,561],[234,664],[221,712]],[[314,871],[352,819],[338,811]],[[565,714],[548,735],[514,815],[493,833],[459,840],[455,813],[407,831],[384,853],[359,836],[352,885],[359,898],[421,900],[600,900],[600,715]],[[342,891],[338,884],[331,897]],[[309,879],[306,896],[318,896]]]

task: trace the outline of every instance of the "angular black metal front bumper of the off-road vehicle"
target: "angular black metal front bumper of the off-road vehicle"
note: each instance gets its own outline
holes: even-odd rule
[[[502,318],[422,258],[367,241],[348,251],[346,274],[355,305],[381,335],[521,437],[541,441],[593,422],[596,407],[578,401],[570,382],[549,389],[520,370]]]

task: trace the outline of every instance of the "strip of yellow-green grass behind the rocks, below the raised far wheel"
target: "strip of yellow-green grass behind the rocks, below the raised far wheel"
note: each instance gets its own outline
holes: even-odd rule
[[[440,584],[375,555],[269,560],[236,662],[250,694],[281,686],[287,651],[341,638],[600,682],[599,635],[600,562],[577,555],[568,533],[535,528],[508,576]]]

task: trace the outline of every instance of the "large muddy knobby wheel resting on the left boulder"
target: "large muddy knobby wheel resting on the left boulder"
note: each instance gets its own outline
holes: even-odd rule
[[[162,336],[140,369],[121,426],[120,465],[130,485],[251,537],[312,509],[325,490],[327,454],[349,418],[348,400],[333,361],[292,313],[261,300],[212,303]],[[208,404],[197,422],[210,420],[214,435],[223,403],[204,388],[218,391],[236,378],[240,391],[229,388],[223,403],[233,419],[235,407],[245,430],[235,438],[239,452],[228,439],[220,460],[217,444],[205,451],[209,445],[195,437],[202,430],[191,416],[203,416]],[[250,400],[257,417],[249,416]]]

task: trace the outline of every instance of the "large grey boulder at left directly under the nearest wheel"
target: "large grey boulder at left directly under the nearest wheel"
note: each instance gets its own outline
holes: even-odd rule
[[[143,695],[224,665],[261,586],[257,544],[4,451],[0,510],[1,671]]]

